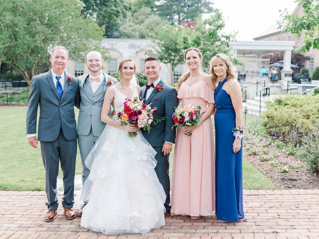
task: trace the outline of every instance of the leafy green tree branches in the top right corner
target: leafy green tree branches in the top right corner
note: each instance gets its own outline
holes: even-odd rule
[[[286,32],[299,35],[304,33],[304,44],[297,48],[299,52],[308,52],[311,48],[319,49],[319,0],[296,0],[303,8],[303,15],[296,12],[282,11],[281,27]]]

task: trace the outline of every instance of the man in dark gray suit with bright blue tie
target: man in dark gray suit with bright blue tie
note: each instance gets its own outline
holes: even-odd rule
[[[45,168],[45,192],[48,212],[45,222],[55,219],[58,208],[56,179],[59,160],[63,172],[64,195],[62,206],[66,219],[76,217],[74,204],[74,174],[76,159],[76,122],[74,101],[78,80],[64,69],[68,62],[68,51],[63,46],[53,48],[50,57],[52,68],[32,78],[26,114],[26,133],[29,144],[37,148],[41,141],[41,154]],[[40,106],[38,138],[36,137],[37,110]]]

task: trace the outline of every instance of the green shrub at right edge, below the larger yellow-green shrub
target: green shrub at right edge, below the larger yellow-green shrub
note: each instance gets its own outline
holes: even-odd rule
[[[304,161],[313,173],[319,173],[319,123],[316,124],[316,129],[305,137],[297,151],[297,157]]]

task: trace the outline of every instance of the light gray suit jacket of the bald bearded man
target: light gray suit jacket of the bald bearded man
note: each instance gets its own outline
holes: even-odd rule
[[[104,80],[95,93],[93,93],[90,85],[89,74],[78,77],[79,88],[77,91],[76,107],[80,109],[77,131],[80,135],[88,135],[92,127],[93,135],[99,137],[105,127],[105,123],[101,121],[104,95],[106,90],[111,86],[109,81],[111,80],[113,84],[118,81],[114,77],[105,73],[103,74]]]

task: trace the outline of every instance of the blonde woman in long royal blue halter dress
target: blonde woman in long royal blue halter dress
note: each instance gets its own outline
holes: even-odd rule
[[[242,93],[228,56],[210,60],[214,92],[216,215],[219,222],[244,218],[242,180]]]

